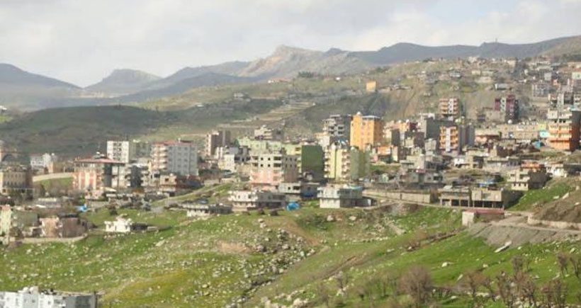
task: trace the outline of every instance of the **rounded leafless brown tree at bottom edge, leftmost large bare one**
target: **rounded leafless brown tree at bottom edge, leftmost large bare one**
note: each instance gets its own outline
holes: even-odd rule
[[[400,278],[400,290],[410,295],[416,307],[426,304],[431,295],[431,275],[426,268],[421,266],[410,268],[405,275]]]

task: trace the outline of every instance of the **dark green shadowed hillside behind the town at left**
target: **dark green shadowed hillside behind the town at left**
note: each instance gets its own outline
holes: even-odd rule
[[[0,123],[0,136],[17,144],[24,154],[87,155],[97,149],[105,151],[108,139],[188,137],[188,134],[205,132],[222,122],[266,113],[279,105],[280,101],[256,100],[179,111],[130,106],[55,108],[25,113]]]

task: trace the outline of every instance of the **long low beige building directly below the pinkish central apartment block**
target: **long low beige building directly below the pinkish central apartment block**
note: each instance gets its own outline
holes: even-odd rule
[[[232,190],[228,197],[234,212],[259,208],[281,208],[286,205],[286,195],[269,190]]]

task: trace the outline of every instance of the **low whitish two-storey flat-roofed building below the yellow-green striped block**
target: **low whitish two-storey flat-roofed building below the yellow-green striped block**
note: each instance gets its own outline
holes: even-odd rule
[[[361,188],[349,186],[320,187],[318,198],[320,200],[319,206],[326,209],[368,206],[366,200],[363,199]]]

